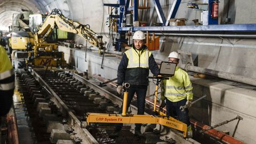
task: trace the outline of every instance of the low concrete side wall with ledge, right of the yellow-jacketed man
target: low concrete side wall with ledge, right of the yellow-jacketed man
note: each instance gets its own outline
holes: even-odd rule
[[[256,129],[255,91],[198,78],[191,78],[191,81],[195,99],[207,95],[190,109],[191,118],[213,126],[237,115],[242,116],[243,120],[239,123],[235,120],[216,129],[227,130],[230,135],[246,143],[256,142],[253,139],[256,136],[253,132]]]

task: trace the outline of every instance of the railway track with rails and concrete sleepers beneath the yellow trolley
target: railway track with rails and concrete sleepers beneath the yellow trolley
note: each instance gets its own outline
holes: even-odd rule
[[[118,113],[122,99],[113,94],[115,93],[113,89],[109,89],[108,86],[102,89],[99,81],[88,80],[67,70],[19,69],[16,71],[16,77],[19,91],[25,99],[37,143],[58,143],[58,140],[69,140],[72,143],[222,142],[207,134],[202,135],[197,130],[194,130],[194,138],[197,141],[185,140],[181,132],[161,125],[147,124],[142,125],[145,137],[135,137],[134,125],[124,124],[119,137],[113,139],[109,134],[114,131],[114,124],[87,125],[86,123],[86,113]],[[137,107],[133,105],[136,102],[131,103],[129,111],[136,114]],[[145,114],[152,115],[151,109],[152,102],[147,100]],[[161,132],[155,130],[161,130]],[[58,137],[58,133],[65,137]]]

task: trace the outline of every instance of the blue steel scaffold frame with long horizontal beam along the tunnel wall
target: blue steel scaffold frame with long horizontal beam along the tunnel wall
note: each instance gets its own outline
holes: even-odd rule
[[[133,1],[133,6],[130,6],[130,0],[118,0],[119,4],[103,4],[104,6],[117,7],[118,15],[110,15],[112,18],[117,18],[117,33],[119,37],[115,39],[115,49],[116,51],[121,51],[122,44],[127,44],[127,38],[125,38],[126,31],[149,31],[154,33],[209,33],[214,31],[214,33],[234,33],[236,31],[247,33],[248,31],[254,31],[256,33],[256,23],[252,24],[239,24],[239,25],[218,25],[218,18],[212,18],[212,5],[217,0],[204,0],[205,3],[208,3],[209,9],[207,10],[208,15],[208,25],[204,26],[169,26],[169,20],[175,18],[181,0],[174,0],[171,10],[168,14],[167,19],[165,18],[164,12],[162,10],[159,0],[153,0],[154,7],[156,9],[159,21],[162,23],[162,26],[149,26],[149,27],[133,27],[131,23],[130,27],[126,27],[126,15],[133,14],[133,22],[138,21],[138,1]],[[218,2],[218,1],[217,1]]]

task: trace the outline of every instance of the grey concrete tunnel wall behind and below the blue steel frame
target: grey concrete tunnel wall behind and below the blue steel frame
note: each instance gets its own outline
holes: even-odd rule
[[[187,18],[186,25],[194,25],[194,19],[201,19],[201,11],[187,8],[188,2],[202,1],[182,1],[175,18]],[[91,29],[96,33],[103,35],[103,41],[106,41],[109,50],[114,50],[112,38],[108,37],[108,27],[106,26],[106,16],[108,8],[102,6],[102,1],[67,1],[71,18],[83,24],[89,24]],[[115,1],[104,1],[104,3],[116,3]],[[167,17],[173,1],[161,1],[165,16]],[[219,23],[225,24],[226,17],[230,18],[228,24],[255,23],[256,10],[253,9],[254,1],[236,0],[220,1]],[[247,7],[245,9],[245,7]],[[250,9],[251,7],[251,9]],[[227,16],[228,11],[228,16]],[[151,2],[151,9],[139,10],[139,17],[142,21],[148,21],[149,25],[159,22]],[[115,34],[114,34],[115,35]],[[131,42],[132,43],[132,42]],[[76,36],[76,44],[85,45],[83,38]],[[88,44],[90,46],[90,44]],[[167,55],[171,51],[183,50],[190,51],[193,54],[193,60],[198,63],[199,67],[214,70],[225,71],[256,78],[256,52],[254,39],[250,38],[205,38],[205,37],[175,37],[162,36],[159,51],[154,51],[157,59],[167,60]]]

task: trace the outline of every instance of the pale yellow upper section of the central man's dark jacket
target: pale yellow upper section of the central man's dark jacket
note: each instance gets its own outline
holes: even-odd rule
[[[132,47],[131,49],[125,51],[125,54],[129,59],[127,68],[149,68],[148,58],[152,54],[150,51],[139,51]]]

